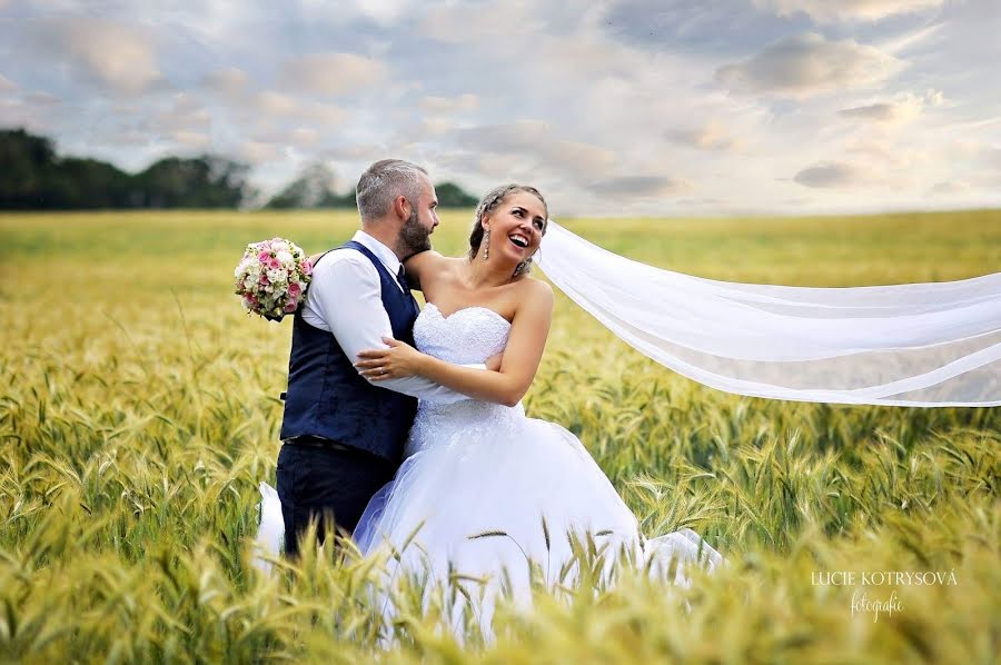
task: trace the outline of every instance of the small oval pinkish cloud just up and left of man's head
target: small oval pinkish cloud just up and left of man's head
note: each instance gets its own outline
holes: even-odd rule
[[[281,80],[316,95],[346,95],[386,82],[389,70],[381,60],[355,53],[313,53],[285,63]]]

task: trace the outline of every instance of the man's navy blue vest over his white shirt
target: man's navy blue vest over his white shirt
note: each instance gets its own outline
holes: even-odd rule
[[[357,249],[376,267],[393,337],[413,345],[419,311],[414,296],[400,290],[396,276],[365,246],[350,240],[344,248]],[[333,332],[307,324],[301,308],[296,311],[281,439],[318,436],[399,461],[417,399],[369,384],[355,361]]]

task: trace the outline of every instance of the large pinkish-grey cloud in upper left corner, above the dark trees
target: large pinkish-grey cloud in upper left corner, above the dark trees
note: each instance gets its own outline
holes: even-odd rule
[[[107,19],[37,22],[39,46],[115,95],[137,96],[166,83],[149,31]]]

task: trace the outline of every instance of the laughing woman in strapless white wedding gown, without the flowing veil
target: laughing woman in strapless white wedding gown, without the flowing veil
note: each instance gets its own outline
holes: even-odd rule
[[[434,251],[406,261],[426,306],[414,324],[416,348],[386,338],[356,367],[373,381],[420,375],[472,397],[422,401],[394,480],[373,497],[354,533],[363,553],[389,547],[392,567],[503,579],[526,598],[533,564],[544,582],[566,583],[573,540],[673,570],[717,566],[720,554],[691,529],[644,540],[635,516],[577,438],[528,418],[521,399],[535,377],[553,315],[553,290],[529,275],[548,211],[532,187],[494,189],[479,204],[468,256]],[[482,364],[502,354],[498,371]],[[607,566],[606,566],[607,568]]]

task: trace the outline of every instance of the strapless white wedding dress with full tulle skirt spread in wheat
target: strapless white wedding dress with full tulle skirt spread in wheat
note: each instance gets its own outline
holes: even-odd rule
[[[492,309],[467,307],[444,317],[429,302],[414,324],[414,341],[449,363],[484,363],[504,350],[509,329]],[[712,569],[722,563],[691,529],[644,540],[635,516],[581,441],[558,425],[526,417],[521,404],[422,401],[404,456],[394,480],[373,497],[354,539],[366,554],[395,548],[399,556],[389,558],[390,575],[429,573],[442,583],[449,574],[486,579],[482,586],[463,583],[472,596],[483,596],[478,613],[485,627],[502,587],[516,601],[531,596],[528,559],[541,566],[547,584],[573,583],[565,575],[559,579],[572,559],[568,533],[591,534],[605,546],[607,569],[625,549],[655,574],[673,572],[681,584],[687,566]],[[265,494],[266,518],[277,514],[280,520],[277,500]],[[268,530],[280,533],[278,527],[280,522]]]

